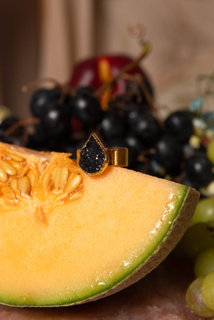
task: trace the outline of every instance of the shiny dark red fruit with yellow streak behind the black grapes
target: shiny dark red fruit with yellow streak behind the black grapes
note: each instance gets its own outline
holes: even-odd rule
[[[90,86],[94,89],[98,89],[103,83],[106,82],[99,74],[99,65],[100,63],[102,63],[102,61],[105,61],[105,63],[107,63],[108,65],[109,80],[110,77],[115,77],[116,75],[118,75],[120,70],[133,60],[125,55],[103,55],[80,61],[73,70],[73,74],[71,76],[69,84],[73,88]],[[139,66],[134,67],[128,73],[131,75],[138,73],[145,79],[148,78],[145,72]],[[150,87],[152,86],[150,85]],[[113,94],[122,94],[125,92],[125,90],[126,80],[122,78],[118,79],[115,83]]]

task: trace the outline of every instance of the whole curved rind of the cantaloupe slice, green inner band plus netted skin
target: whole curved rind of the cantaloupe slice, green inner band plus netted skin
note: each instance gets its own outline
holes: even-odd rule
[[[199,200],[200,194],[190,187],[184,186],[183,188],[183,195],[181,196],[180,202],[174,210],[174,220],[171,225],[166,229],[165,233],[162,236],[162,239],[157,244],[155,243],[154,246],[151,248],[150,252],[148,253],[146,259],[142,261],[139,258],[136,263],[132,266],[132,269],[128,269],[128,271],[124,272],[120,278],[115,279],[114,282],[110,282],[105,291],[97,290],[93,292],[93,295],[87,294],[87,292],[82,295],[82,297],[78,300],[73,300],[72,303],[70,300],[64,301],[56,301],[56,304],[48,304],[48,305],[35,305],[34,303],[28,303],[20,305],[19,301],[14,301],[14,297],[7,297],[2,304],[10,305],[10,306],[20,306],[20,307],[27,307],[27,306],[34,306],[34,307],[54,307],[54,306],[70,306],[75,304],[86,303],[89,301],[95,301],[100,298],[104,298],[108,295],[116,293],[129,285],[137,282],[141,278],[143,278],[146,274],[152,271],[154,268],[158,266],[160,262],[162,262],[167,255],[172,251],[175,245],[179,242],[181,237],[183,236],[186,228],[188,227],[193,213],[195,211],[197,202]]]

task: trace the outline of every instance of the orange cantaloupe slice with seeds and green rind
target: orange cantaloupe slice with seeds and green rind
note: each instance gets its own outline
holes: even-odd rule
[[[83,303],[155,268],[182,237],[199,193],[119,167],[98,176],[69,154],[0,144],[0,302]]]

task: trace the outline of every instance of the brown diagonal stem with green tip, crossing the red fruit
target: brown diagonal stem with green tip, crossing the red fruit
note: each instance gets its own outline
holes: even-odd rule
[[[109,86],[111,86],[115,81],[117,81],[119,78],[121,78],[124,73],[128,73],[130,70],[135,68],[138,65],[138,63],[148,54],[149,51],[150,51],[150,44],[148,42],[143,42],[143,51],[141,52],[139,57],[137,57],[135,60],[133,60],[132,62],[130,62],[127,65],[125,65],[120,70],[120,72],[118,73],[117,76],[115,76],[110,81],[106,82],[101,87],[99,87],[94,92],[94,96],[95,97],[99,97]]]

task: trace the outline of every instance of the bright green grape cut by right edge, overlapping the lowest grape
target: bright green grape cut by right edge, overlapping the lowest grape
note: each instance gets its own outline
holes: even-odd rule
[[[203,280],[201,297],[205,305],[214,311],[214,270],[208,273]]]

